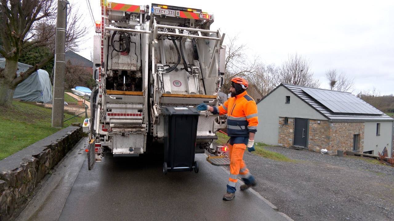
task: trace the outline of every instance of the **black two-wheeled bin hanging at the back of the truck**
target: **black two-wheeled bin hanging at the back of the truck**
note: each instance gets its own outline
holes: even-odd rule
[[[198,173],[194,161],[199,112],[194,107],[163,107],[164,115],[164,164],[167,171],[192,171]]]

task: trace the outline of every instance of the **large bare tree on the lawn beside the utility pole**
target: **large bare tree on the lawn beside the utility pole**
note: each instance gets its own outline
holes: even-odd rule
[[[6,59],[5,68],[0,69],[0,106],[11,107],[17,85],[54,57],[56,3],[55,0],[0,0],[3,43],[0,53]],[[67,7],[68,2],[64,0],[64,4]],[[67,18],[67,48],[75,49],[84,36],[86,28],[81,24],[81,14],[75,13]],[[51,55],[17,76],[19,57],[38,47],[50,48]]]

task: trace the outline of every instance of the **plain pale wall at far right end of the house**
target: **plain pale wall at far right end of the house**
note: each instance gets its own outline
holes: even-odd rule
[[[380,123],[380,136],[376,136],[376,124]],[[387,148],[388,155],[391,156],[393,122],[365,122],[364,129],[364,151],[374,151],[382,153],[383,148]]]

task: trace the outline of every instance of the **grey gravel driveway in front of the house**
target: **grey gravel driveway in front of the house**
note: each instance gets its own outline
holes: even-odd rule
[[[394,168],[308,150],[266,149],[297,161],[245,152],[244,160],[259,183],[253,189],[292,219],[394,220]]]

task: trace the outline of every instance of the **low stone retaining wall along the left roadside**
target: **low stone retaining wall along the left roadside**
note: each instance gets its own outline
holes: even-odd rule
[[[39,182],[82,136],[82,127],[70,126],[0,160],[1,221],[20,213]]]

